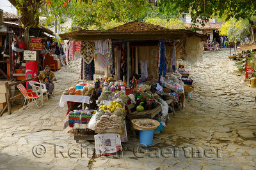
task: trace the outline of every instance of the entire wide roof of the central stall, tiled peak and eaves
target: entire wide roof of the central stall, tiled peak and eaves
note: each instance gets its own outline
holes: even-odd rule
[[[206,36],[185,29],[168,29],[159,25],[148,24],[135,20],[106,31],[79,30],[60,34],[61,39],[77,40],[102,40],[102,39],[126,39],[126,40],[154,40],[154,39],[182,39],[198,36],[202,41]]]

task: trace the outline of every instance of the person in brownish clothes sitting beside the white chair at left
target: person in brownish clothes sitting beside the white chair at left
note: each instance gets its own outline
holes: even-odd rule
[[[40,72],[39,78],[41,83],[44,83],[48,91],[48,97],[52,94],[54,89],[53,81],[56,81],[54,73],[51,71],[50,66],[45,66],[44,70]]]

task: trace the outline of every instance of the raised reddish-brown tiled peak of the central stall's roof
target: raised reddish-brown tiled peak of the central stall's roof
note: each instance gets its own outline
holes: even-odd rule
[[[124,25],[120,25],[113,29],[108,29],[107,31],[159,31],[159,30],[169,30],[166,27],[161,27],[159,25],[149,24],[147,22],[140,22],[138,20],[127,22]]]

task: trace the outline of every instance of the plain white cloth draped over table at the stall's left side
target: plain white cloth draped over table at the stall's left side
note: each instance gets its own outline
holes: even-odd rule
[[[90,104],[90,96],[79,96],[79,95],[62,95],[60,98],[60,107],[64,107],[66,102],[77,102],[77,103],[86,103]]]

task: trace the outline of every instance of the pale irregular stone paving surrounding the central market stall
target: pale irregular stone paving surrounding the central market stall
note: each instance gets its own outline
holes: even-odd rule
[[[129,136],[124,152],[93,158],[90,166],[93,143],[81,146],[61,131],[66,108],[58,106],[58,92],[75,84],[79,67],[61,69],[56,96],[44,108],[29,104],[0,117],[0,169],[256,169],[256,88],[244,83],[228,54],[205,52],[198,67],[186,64],[195,81],[193,97],[154,135],[152,147],[140,147]],[[32,150],[41,156],[40,145],[46,152],[37,158]]]

